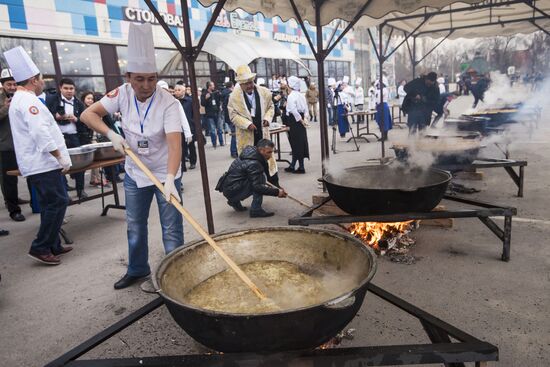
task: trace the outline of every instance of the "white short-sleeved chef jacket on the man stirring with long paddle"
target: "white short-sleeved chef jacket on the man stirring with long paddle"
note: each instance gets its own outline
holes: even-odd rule
[[[136,110],[136,101],[139,114]],[[166,134],[182,132],[182,115],[178,107],[178,105],[181,106],[181,103],[170,92],[159,86],[151,97],[145,102],[140,102],[135,98],[134,90],[129,83],[107,93],[100,102],[108,113],[120,112],[122,115],[121,127],[128,145],[161,182],[166,181],[168,173]],[[144,120],[149,105],[149,113]],[[143,122],[143,133],[141,132],[140,117]],[[140,140],[148,141],[149,153],[146,155],[140,154],[138,151],[138,141]],[[126,159],[124,169],[126,174],[136,182],[138,188],[153,185],[153,182],[132,159]],[[181,176],[180,169],[181,166],[178,168],[176,177]]]

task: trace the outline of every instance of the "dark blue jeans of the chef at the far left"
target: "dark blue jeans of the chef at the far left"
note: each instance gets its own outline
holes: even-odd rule
[[[32,241],[30,252],[37,255],[59,254],[59,230],[69,205],[61,170],[31,175],[27,181],[35,188],[40,205],[40,228],[36,239]]]

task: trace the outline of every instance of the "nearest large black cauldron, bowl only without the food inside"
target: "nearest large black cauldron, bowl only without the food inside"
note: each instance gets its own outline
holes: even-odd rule
[[[265,314],[230,314],[196,308],[174,298],[226,264],[204,241],[166,256],[153,278],[174,320],[198,342],[222,352],[276,352],[315,348],[356,315],[376,272],[376,255],[355,237],[303,227],[264,228],[214,237],[238,264],[284,260],[329,273],[333,297],[316,305]],[[334,283],[334,284],[333,284]]]

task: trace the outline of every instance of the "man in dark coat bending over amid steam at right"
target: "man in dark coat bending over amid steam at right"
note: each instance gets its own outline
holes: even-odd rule
[[[407,95],[401,108],[408,115],[409,133],[422,131],[432,121],[432,111],[439,102],[439,88],[436,84],[437,74],[434,72],[416,78],[404,87]]]

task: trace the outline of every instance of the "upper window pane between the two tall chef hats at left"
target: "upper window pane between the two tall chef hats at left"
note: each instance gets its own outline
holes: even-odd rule
[[[99,45],[56,42],[61,73],[66,75],[103,75]]]

